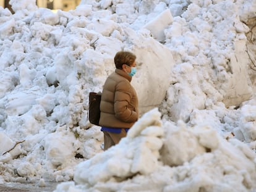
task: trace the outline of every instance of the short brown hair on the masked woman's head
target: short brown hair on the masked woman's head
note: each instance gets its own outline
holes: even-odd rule
[[[114,64],[116,69],[122,69],[122,65],[132,66],[136,60],[136,56],[129,51],[119,51],[114,56]]]

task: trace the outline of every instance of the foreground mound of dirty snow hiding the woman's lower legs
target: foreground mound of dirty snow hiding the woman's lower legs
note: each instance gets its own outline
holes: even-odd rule
[[[213,127],[162,125],[160,115],[157,109],[143,115],[117,146],[77,165],[74,182],[55,191],[255,188],[255,154],[245,144],[223,139]]]

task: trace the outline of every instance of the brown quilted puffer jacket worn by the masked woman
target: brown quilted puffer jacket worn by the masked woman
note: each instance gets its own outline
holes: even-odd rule
[[[139,118],[138,98],[130,77],[116,69],[105,81],[100,102],[100,125],[130,128]]]

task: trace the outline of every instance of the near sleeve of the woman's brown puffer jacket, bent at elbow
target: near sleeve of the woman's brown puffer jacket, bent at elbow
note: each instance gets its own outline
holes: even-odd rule
[[[135,122],[138,114],[135,107],[131,105],[132,88],[129,82],[121,81],[116,85],[114,94],[114,112],[116,118],[124,122]]]

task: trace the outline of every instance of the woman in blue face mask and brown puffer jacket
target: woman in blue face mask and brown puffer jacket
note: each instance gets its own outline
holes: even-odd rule
[[[135,59],[131,52],[117,52],[114,57],[116,70],[103,86],[100,125],[104,133],[104,150],[119,143],[139,118],[137,94],[130,84],[136,72]]]

